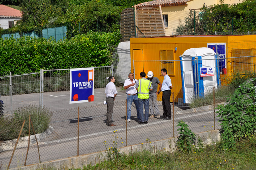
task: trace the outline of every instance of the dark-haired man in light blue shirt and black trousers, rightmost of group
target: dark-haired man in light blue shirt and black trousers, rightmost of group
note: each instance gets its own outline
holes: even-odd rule
[[[164,116],[163,119],[169,120],[172,119],[172,109],[170,104],[170,97],[172,95],[171,89],[173,88],[172,80],[170,79],[169,75],[167,74],[166,69],[161,70],[162,76],[164,76],[164,81],[162,83],[162,106],[164,109]]]

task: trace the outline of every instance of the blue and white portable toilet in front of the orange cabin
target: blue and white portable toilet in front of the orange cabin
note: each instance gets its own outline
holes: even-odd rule
[[[181,55],[183,103],[194,97],[204,97],[213,86],[220,85],[216,53],[207,47],[190,48]]]

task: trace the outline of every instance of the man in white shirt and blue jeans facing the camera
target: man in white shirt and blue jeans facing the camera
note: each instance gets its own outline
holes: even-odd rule
[[[126,89],[127,94],[127,122],[131,121],[131,104],[134,103],[137,110],[137,118],[139,119],[139,105],[138,105],[138,95],[137,90],[134,87],[136,79],[134,79],[133,73],[128,74],[128,78],[123,84],[123,88]],[[140,121],[140,119],[139,119]]]

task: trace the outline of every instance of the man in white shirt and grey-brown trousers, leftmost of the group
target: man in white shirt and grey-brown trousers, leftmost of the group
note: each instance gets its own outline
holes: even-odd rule
[[[112,113],[114,108],[114,100],[117,95],[116,86],[114,84],[115,78],[113,76],[110,76],[108,78],[109,83],[106,86],[105,94],[106,94],[106,103],[108,106],[107,111],[107,125],[108,126],[116,126],[112,123]]]

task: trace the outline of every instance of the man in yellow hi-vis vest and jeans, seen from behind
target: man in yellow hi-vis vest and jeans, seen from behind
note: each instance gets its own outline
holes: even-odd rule
[[[149,91],[153,90],[151,81],[147,80],[145,72],[140,72],[140,78],[135,88],[138,91],[138,103],[139,103],[139,124],[148,123],[148,110],[149,110]],[[143,116],[143,105],[145,108],[145,114]]]

